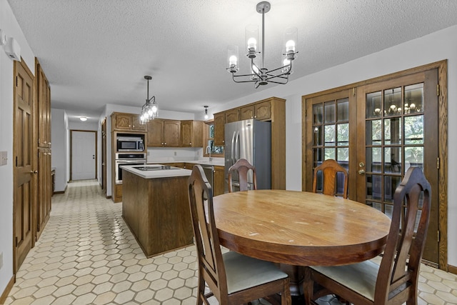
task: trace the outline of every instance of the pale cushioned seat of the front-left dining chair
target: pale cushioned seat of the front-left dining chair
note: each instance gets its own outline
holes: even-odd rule
[[[287,277],[286,273],[270,261],[253,259],[234,251],[226,252],[222,257],[229,294]]]

